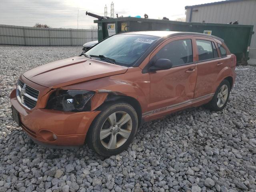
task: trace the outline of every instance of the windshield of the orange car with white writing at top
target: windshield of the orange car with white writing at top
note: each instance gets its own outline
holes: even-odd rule
[[[115,64],[132,66],[158,38],[136,34],[114,35],[88,50],[86,55],[91,55],[93,59],[98,60],[101,58],[93,56],[102,55],[114,60]]]

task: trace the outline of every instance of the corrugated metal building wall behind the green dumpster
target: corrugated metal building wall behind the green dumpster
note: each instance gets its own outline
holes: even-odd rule
[[[190,9],[186,12],[186,21],[189,21]],[[223,23],[239,21],[239,24],[254,25],[256,31],[256,0],[243,0],[222,4],[194,7],[191,22]],[[252,35],[250,58],[256,58],[256,34]]]

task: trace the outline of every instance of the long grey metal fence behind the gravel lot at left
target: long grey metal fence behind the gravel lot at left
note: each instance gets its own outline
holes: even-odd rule
[[[2,45],[76,46],[94,40],[98,40],[97,30],[0,25]]]

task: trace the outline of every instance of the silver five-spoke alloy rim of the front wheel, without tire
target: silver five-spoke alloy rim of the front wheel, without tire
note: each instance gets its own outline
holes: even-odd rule
[[[100,130],[100,141],[107,149],[116,149],[126,142],[132,132],[132,118],[124,111],[112,113]]]

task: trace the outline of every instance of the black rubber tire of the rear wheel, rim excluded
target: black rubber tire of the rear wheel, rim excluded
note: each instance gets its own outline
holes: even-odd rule
[[[227,95],[227,98],[226,98],[226,101],[224,102],[224,104],[222,106],[218,106],[218,104],[217,104],[217,102],[218,102],[218,93],[220,92],[220,89],[224,85],[226,85],[228,87],[228,95]],[[205,105],[206,108],[208,108],[211,111],[220,111],[220,110],[222,110],[228,102],[229,94],[230,94],[230,83],[228,82],[228,80],[224,79],[220,83],[220,85],[218,86],[212,100]]]

